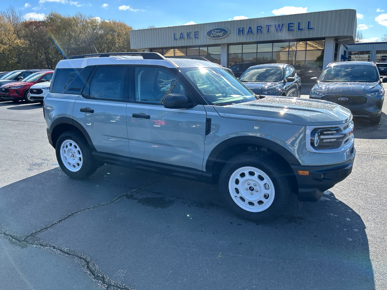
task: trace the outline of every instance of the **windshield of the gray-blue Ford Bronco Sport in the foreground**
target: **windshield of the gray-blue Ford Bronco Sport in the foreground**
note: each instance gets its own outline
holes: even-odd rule
[[[212,105],[237,104],[258,98],[230,73],[222,68],[181,68],[190,82]]]

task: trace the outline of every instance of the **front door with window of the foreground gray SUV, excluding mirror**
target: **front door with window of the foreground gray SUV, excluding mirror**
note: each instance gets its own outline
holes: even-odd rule
[[[202,170],[204,106],[165,108],[162,99],[167,92],[185,94],[189,102],[194,101],[178,78],[164,68],[135,67],[134,84],[135,97],[127,105],[131,156]]]

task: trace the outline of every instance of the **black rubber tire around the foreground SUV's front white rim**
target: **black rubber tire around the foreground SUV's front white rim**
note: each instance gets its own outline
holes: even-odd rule
[[[250,212],[245,210],[237,205],[231,197],[231,193],[229,191],[229,179],[237,169],[245,166],[255,167],[263,171],[267,174],[267,176],[269,176],[272,184],[274,185],[274,200],[269,208],[261,212]],[[275,159],[263,152],[236,155],[224,165],[219,177],[219,189],[222,198],[224,198],[226,203],[237,215],[248,220],[271,220],[278,217],[284,212],[285,207],[290,205],[289,199],[292,193],[291,181],[281,168],[281,165],[277,164]],[[243,182],[243,177],[240,182]],[[233,194],[235,194],[235,192]]]

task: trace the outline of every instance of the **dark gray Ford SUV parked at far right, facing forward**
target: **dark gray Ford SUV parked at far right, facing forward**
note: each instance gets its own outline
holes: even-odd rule
[[[310,99],[334,102],[351,110],[353,116],[369,118],[378,124],[382,115],[384,89],[372,61],[330,63],[310,91]]]

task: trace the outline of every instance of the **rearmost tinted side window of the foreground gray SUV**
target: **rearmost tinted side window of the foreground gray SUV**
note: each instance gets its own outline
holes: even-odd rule
[[[85,68],[58,68],[51,92],[80,94],[92,69],[92,66]]]

